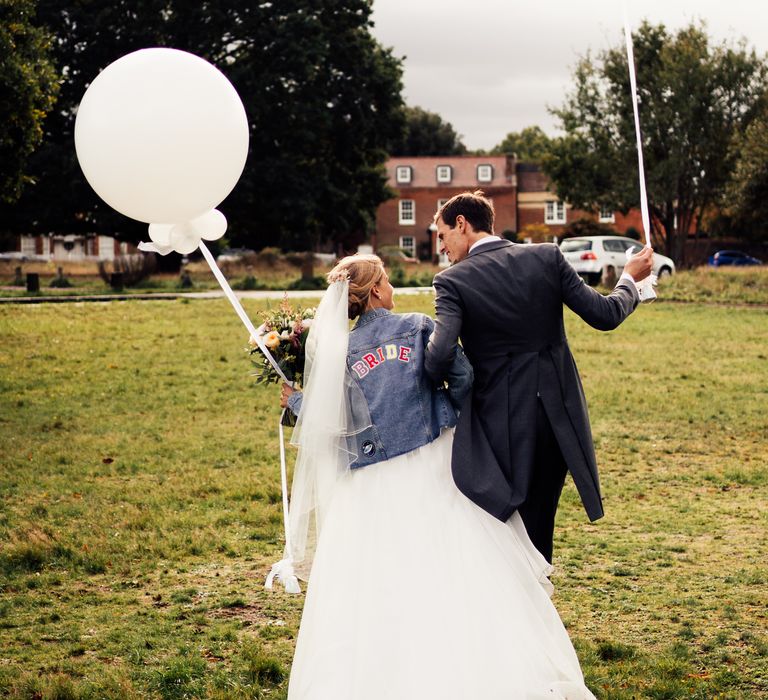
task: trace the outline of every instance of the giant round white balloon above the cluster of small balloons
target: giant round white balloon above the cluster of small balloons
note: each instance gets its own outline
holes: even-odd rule
[[[235,88],[207,61],[142,49],[105,68],[83,96],[75,148],[107,204],[147,223],[209,212],[234,188],[248,155]]]

